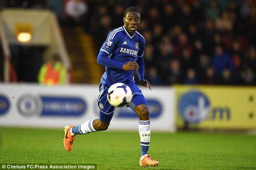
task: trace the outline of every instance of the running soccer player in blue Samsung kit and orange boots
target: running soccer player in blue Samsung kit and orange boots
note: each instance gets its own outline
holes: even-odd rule
[[[99,86],[99,119],[88,120],[78,126],[66,125],[64,147],[71,150],[75,135],[87,134],[90,132],[107,130],[113,117],[115,107],[107,101],[108,88],[118,82],[127,84],[132,90],[132,101],[128,106],[135,111],[139,117],[138,131],[141,138],[140,166],[158,166],[159,162],[153,160],[149,154],[150,141],[150,119],[149,108],[141,90],[136,86],[133,70],[136,70],[139,83],[151,90],[151,85],[144,79],[143,51],[145,39],[138,33],[140,24],[140,13],[136,7],[129,7],[124,12],[124,26],[110,31],[106,41],[103,43],[97,62],[105,66],[106,71],[101,78]]]

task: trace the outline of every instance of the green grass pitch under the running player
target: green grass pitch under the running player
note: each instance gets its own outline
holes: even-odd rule
[[[0,127],[0,163],[96,163],[98,170],[141,170],[136,131],[77,135],[71,152],[63,129]],[[219,133],[151,133],[154,170],[256,170],[256,136]]]

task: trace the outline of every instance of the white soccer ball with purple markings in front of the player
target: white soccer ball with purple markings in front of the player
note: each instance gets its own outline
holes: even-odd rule
[[[109,87],[107,101],[114,107],[124,107],[132,100],[132,90],[124,83],[115,83]]]

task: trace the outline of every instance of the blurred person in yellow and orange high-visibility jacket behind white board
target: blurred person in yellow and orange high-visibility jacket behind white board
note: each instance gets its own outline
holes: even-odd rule
[[[38,82],[46,85],[66,84],[67,70],[55,54],[50,61],[44,63],[38,74]]]

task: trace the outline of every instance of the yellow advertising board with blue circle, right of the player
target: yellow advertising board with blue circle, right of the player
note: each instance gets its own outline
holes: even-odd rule
[[[256,87],[174,86],[176,125],[199,129],[256,129]]]

